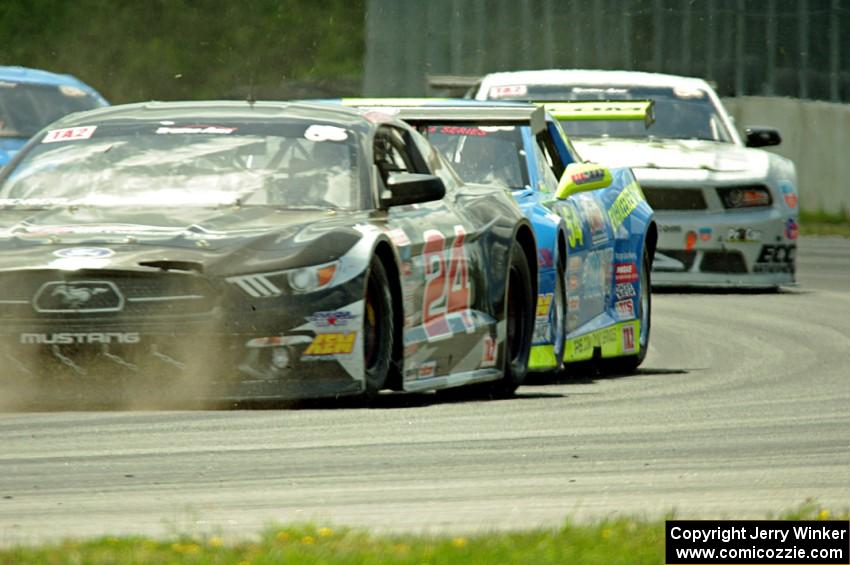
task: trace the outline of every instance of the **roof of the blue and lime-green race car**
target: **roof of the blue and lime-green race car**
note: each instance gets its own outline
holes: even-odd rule
[[[386,109],[405,121],[531,123],[535,133],[546,128],[546,111],[538,105],[516,102],[429,98],[346,98],[347,106]]]

